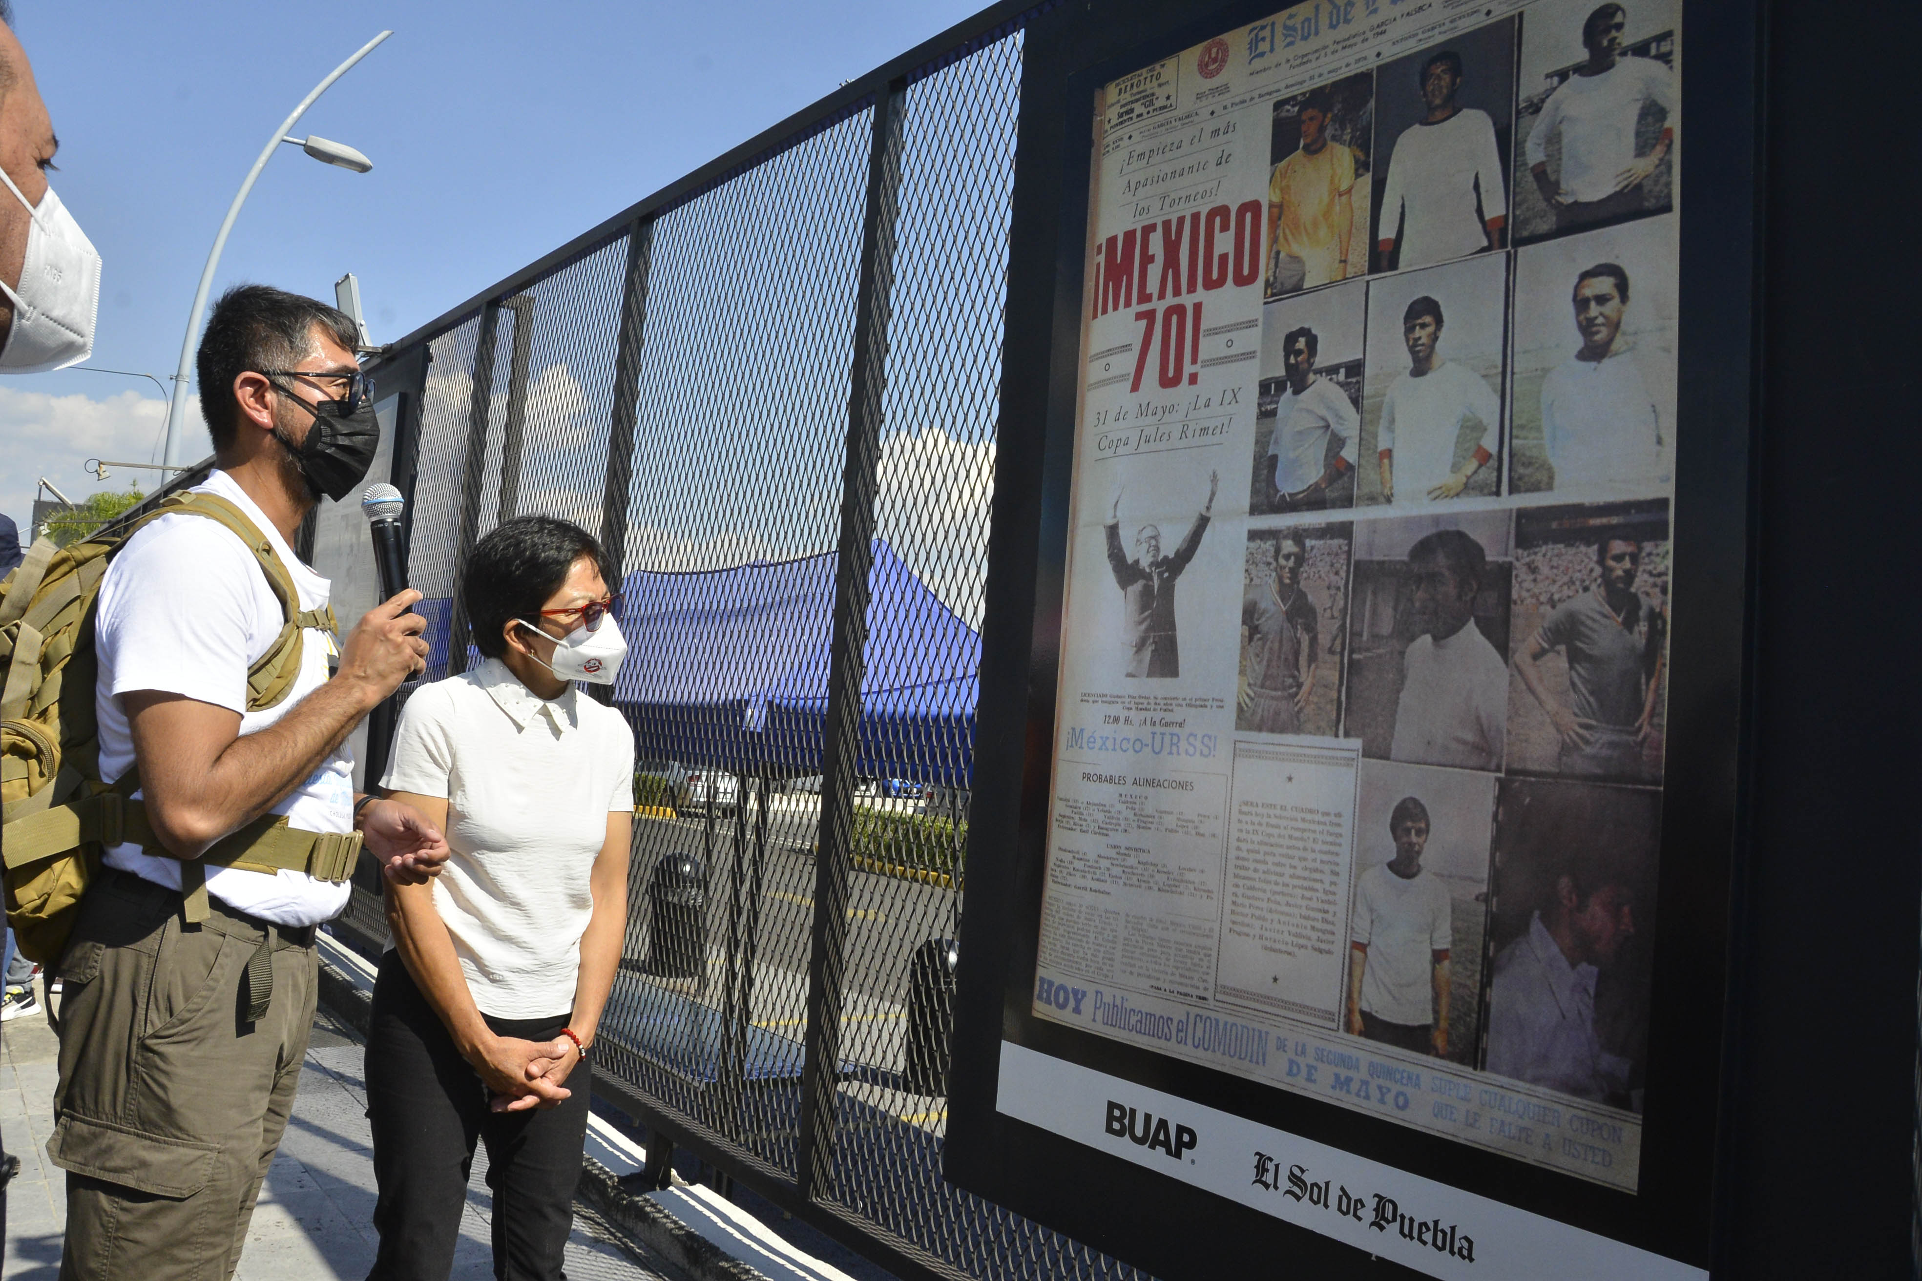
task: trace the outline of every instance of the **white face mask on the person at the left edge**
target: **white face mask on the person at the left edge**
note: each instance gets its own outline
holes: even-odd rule
[[[60,204],[54,188],[40,196],[40,207],[27,204],[13,179],[0,169],[13,198],[27,205],[33,229],[27,232],[27,259],[19,269],[19,288],[0,290],[13,300],[13,328],[0,350],[0,373],[40,375],[79,365],[94,351],[94,325],[100,319],[100,254],[92,240]]]

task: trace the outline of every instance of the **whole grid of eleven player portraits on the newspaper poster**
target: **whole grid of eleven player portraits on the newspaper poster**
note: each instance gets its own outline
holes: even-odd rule
[[[1545,0],[1274,104],[1236,699],[1361,741],[1343,1029],[1634,1112],[1676,36]]]

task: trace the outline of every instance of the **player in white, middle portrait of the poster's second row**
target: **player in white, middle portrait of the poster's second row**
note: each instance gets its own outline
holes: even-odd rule
[[[1495,457],[1488,442],[1501,440],[1501,401],[1478,373],[1440,357],[1442,325],[1442,303],[1426,294],[1401,313],[1409,373],[1388,384],[1374,432],[1382,497],[1390,503],[1397,494],[1411,503],[1455,497]],[[1457,469],[1455,449],[1468,419],[1480,430]]]

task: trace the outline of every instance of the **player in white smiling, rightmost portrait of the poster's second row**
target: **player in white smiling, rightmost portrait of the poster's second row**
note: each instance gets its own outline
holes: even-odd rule
[[[1668,482],[1663,415],[1626,338],[1628,271],[1595,263],[1574,278],[1582,348],[1541,380],[1541,446],[1557,490]]]

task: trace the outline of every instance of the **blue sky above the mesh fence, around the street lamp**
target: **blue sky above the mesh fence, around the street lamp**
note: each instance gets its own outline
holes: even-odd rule
[[[382,27],[394,36],[294,131],[359,148],[373,173],[281,148],[215,278],[215,294],[261,280],[333,300],[352,271],[375,342],[976,8],[15,0],[15,31],[62,140],[54,188],[104,259],[88,365],[167,382],[246,167],[281,117]],[[96,492],[81,471],[88,457],[158,457],[163,417],[144,378],[0,376],[0,511],[25,524],[38,476],[75,499]],[[206,451],[198,417],[194,428],[188,457]],[[144,476],[148,488],[156,472]]]

